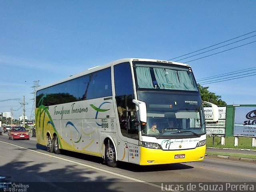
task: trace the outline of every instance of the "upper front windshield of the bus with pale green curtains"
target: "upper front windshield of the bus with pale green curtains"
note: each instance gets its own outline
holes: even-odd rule
[[[136,62],[135,71],[138,89],[198,91],[192,70],[187,66]]]

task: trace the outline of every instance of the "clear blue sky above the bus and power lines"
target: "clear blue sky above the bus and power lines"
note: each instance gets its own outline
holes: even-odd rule
[[[43,86],[121,58],[172,60],[238,36],[179,62],[197,80],[255,72],[255,10],[255,0],[1,0],[0,112],[22,116],[25,96],[30,118],[34,81]],[[203,86],[229,105],[256,104],[255,77]]]

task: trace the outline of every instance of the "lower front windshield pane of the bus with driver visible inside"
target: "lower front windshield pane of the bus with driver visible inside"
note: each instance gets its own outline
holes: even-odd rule
[[[163,138],[188,138],[206,134],[199,94],[138,92],[146,103],[147,123],[142,135]]]

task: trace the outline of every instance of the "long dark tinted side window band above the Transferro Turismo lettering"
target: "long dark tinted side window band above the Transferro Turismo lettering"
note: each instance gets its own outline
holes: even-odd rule
[[[107,96],[112,96],[110,68],[39,90],[36,93],[36,106],[51,106]]]

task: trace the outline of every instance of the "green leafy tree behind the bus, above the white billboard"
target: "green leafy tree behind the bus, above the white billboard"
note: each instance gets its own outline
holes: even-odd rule
[[[216,104],[218,106],[226,105],[226,102],[224,102],[221,99],[221,96],[218,96],[215,93],[208,91],[209,87],[203,87],[200,84],[198,84],[198,88],[199,88],[201,98],[202,98],[203,101],[211,102],[211,103]]]

